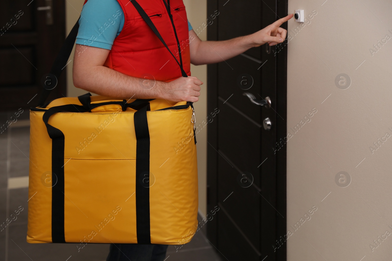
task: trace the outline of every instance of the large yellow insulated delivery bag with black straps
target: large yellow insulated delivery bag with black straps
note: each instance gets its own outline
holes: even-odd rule
[[[91,96],[89,112],[86,97],[31,108],[27,241],[187,243],[198,223],[191,104]]]

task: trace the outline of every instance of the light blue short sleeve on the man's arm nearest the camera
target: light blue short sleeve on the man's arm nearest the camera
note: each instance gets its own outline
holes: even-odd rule
[[[124,20],[117,0],[88,0],[81,12],[76,43],[111,50]]]

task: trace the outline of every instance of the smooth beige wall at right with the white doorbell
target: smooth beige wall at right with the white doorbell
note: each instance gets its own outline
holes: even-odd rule
[[[290,20],[292,39],[283,47],[288,48],[287,228],[292,234],[282,243],[289,261],[390,260],[392,235],[383,235],[392,233],[392,138],[385,137],[392,135],[392,39],[373,55],[369,49],[392,37],[392,2],[324,1],[289,0],[289,13],[317,14],[296,34],[290,29],[299,23]],[[344,79],[343,86],[338,79],[340,88],[335,84],[341,73],[351,79],[345,90]],[[305,122],[313,108],[317,112]],[[291,128],[297,124],[303,126],[295,133]],[[374,142],[379,142],[376,151],[370,149]],[[348,173],[349,184],[344,176],[336,181],[340,171]],[[317,210],[304,218],[313,206]],[[377,247],[378,237],[384,239]]]

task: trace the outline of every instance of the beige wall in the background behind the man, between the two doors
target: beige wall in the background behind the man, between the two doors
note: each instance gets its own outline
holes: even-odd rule
[[[71,31],[79,13],[82,10],[83,0],[67,0],[66,19],[67,34]],[[207,0],[191,1],[184,0],[188,20],[192,27],[198,28],[207,19]],[[207,29],[199,34],[201,40],[207,39]],[[71,59],[73,59],[71,54]],[[200,100],[194,104],[196,121],[202,122],[207,118],[207,66],[191,66],[192,76],[198,77],[204,84],[202,85]],[[68,96],[74,97],[84,94],[84,90],[75,88],[72,83],[72,62],[67,65],[67,92]],[[198,151],[198,175],[199,175],[199,211],[202,215],[207,212],[206,187],[207,187],[207,127],[203,128],[197,134],[197,151]]]

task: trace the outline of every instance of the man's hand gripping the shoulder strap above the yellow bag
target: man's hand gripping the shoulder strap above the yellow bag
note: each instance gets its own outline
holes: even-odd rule
[[[203,82],[197,77],[180,77],[163,85],[161,96],[168,101],[196,102],[200,96],[200,85]]]

